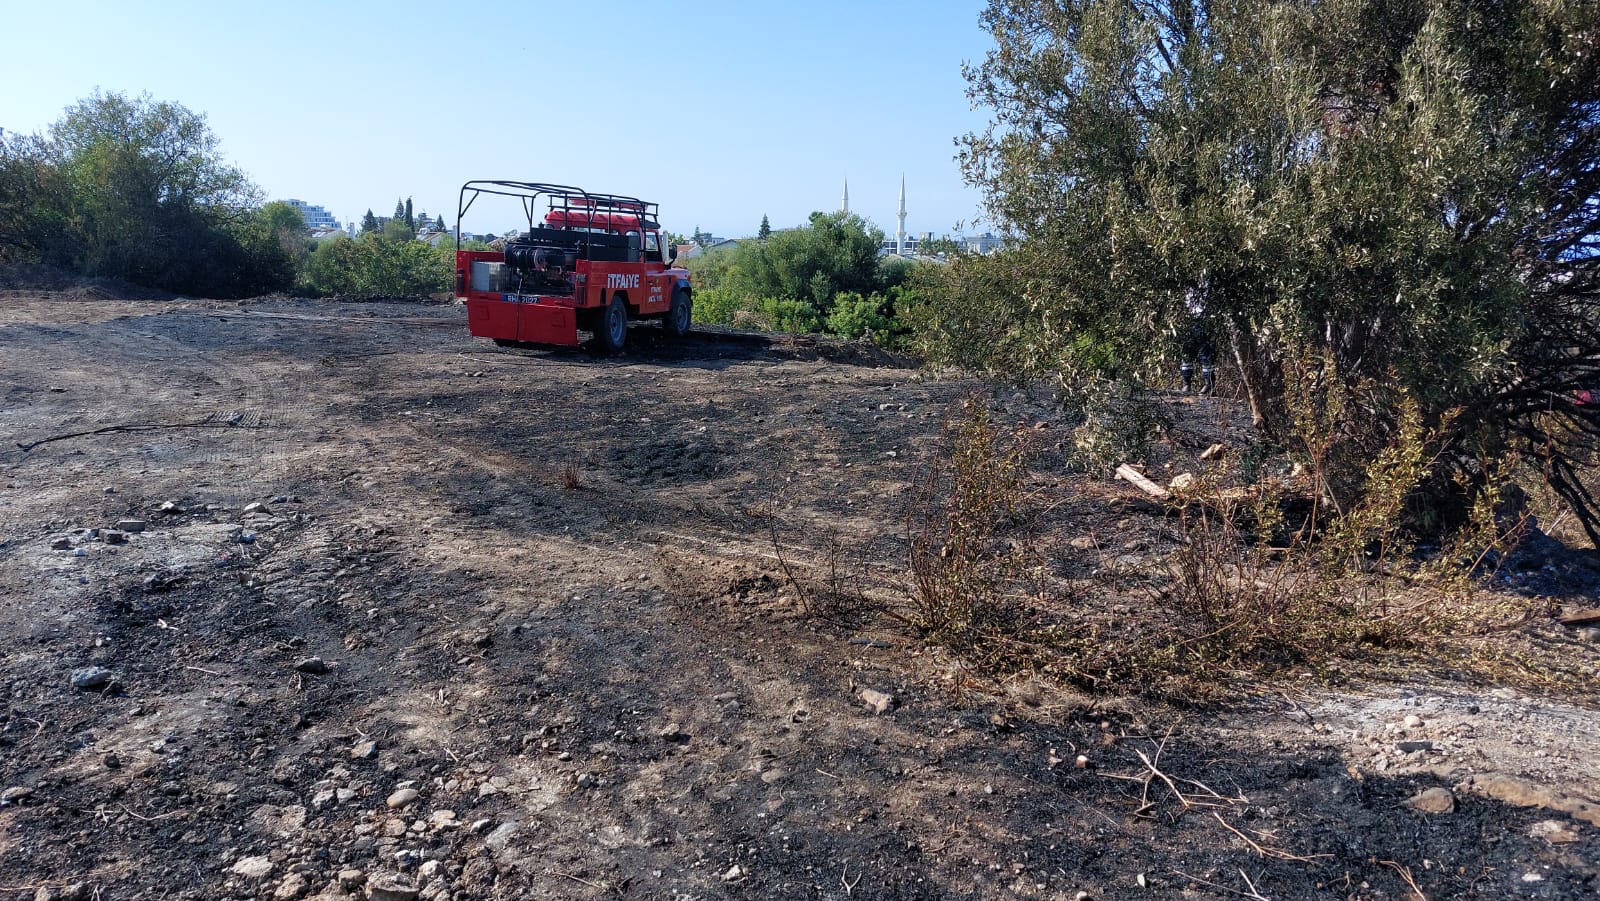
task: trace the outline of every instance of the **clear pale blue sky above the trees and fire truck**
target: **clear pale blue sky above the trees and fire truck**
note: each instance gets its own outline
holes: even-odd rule
[[[741,235],[838,208],[848,178],[851,210],[893,232],[902,173],[907,230],[979,213],[952,139],[986,120],[960,72],[989,48],[981,0],[5,6],[0,128],[149,91],[206,114],[269,197],[339,219],[411,195],[453,222],[462,181],[512,178]]]

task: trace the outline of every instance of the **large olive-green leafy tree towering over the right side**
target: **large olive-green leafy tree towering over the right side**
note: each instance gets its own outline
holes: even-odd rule
[[[1306,451],[1307,382],[1362,398],[1336,427],[1355,456],[1416,398],[1458,472],[1520,451],[1600,541],[1578,479],[1600,406],[1568,402],[1600,384],[1594,13],[990,0],[966,75],[994,118],[962,165],[1024,240],[946,285],[995,291],[1003,326],[933,318],[1034,368],[1150,366],[1198,328],[1262,434]]]

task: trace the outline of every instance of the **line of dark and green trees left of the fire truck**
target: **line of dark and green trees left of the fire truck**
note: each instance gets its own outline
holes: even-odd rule
[[[43,134],[0,131],[0,262],[218,298],[443,291],[453,259],[413,240],[418,224],[408,198],[382,229],[312,242],[203,115],[147,94],[94,93]]]

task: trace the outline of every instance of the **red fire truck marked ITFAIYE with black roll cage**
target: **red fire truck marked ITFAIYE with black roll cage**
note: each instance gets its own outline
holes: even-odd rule
[[[528,230],[504,250],[461,250],[461,218],[482,195],[517,198]],[[469,181],[456,210],[456,296],[467,328],[501,346],[578,344],[578,330],[618,350],[630,318],[690,330],[690,274],[677,267],[656,203],[528,181]]]

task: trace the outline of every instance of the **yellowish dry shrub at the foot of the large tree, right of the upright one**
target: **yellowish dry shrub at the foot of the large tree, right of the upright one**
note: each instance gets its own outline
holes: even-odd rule
[[[1326,419],[1323,419],[1326,422]],[[1154,642],[1186,693],[1240,671],[1314,669],[1376,651],[1406,651],[1435,639],[1483,632],[1520,611],[1478,595],[1477,575],[1515,543],[1523,520],[1501,517],[1506,477],[1485,469],[1467,523],[1429,554],[1413,531],[1414,496],[1434,477],[1445,427],[1424,427],[1400,394],[1386,446],[1350,475],[1349,458],[1330,477],[1312,456],[1302,482],[1310,503],[1296,507],[1294,485],[1264,482],[1246,495],[1221,485],[1213,467],[1192,503],[1174,503],[1181,547],[1160,600],[1176,615]],[[1310,435],[1307,435],[1310,437]],[[1312,443],[1312,442],[1307,442]],[[1328,442],[1322,446],[1331,446]],[[1315,446],[1315,445],[1312,445]],[[1341,503],[1344,488],[1358,495]],[[1298,522],[1286,511],[1299,509]]]

